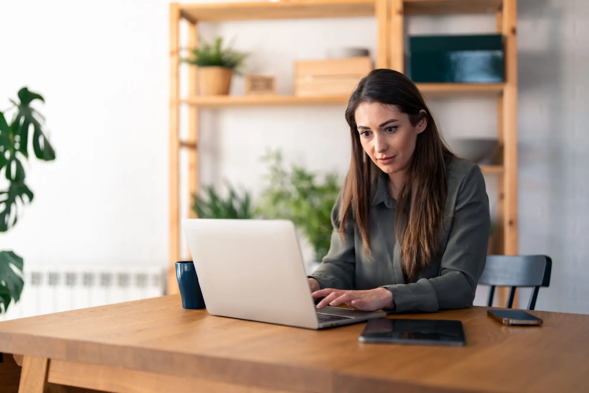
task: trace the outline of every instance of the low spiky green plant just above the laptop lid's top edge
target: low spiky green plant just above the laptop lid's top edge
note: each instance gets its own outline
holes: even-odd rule
[[[249,192],[240,195],[233,187],[229,189],[227,198],[217,193],[213,186],[204,189],[203,196],[193,195],[193,211],[198,218],[253,218],[254,208]]]

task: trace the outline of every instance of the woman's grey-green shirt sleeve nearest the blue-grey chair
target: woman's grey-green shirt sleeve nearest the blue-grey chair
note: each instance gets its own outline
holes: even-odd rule
[[[491,217],[485,179],[474,166],[456,197],[454,221],[442,256],[441,271],[433,279],[383,286],[393,294],[395,311],[435,312],[472,306],[485,268]]]

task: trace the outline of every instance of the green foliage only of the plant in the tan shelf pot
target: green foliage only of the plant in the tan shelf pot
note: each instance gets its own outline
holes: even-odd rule
[[[234,51],[231,48],[222,48],[223,38],[217,37],[214,44],[201,42],[198,48],[190,49],[191,56],[182,61],[197,67],[224,67],[237,68],[243,65],[247,54]]]

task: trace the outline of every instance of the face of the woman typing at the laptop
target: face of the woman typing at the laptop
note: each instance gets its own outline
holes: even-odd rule
[[[421,112],[425,114],[425,110]],[[362,148],[389,175],[406,168],[417,135],[428,125],[424,116],[413,126],[408,114],[399,112],[396,106],[381,103],[361,103],[355,116]]]

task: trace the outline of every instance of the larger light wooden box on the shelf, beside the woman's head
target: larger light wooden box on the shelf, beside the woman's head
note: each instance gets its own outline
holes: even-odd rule
[[[368,56],[297,61],[294,64],[294,95],[350,94],[373,68]]]

